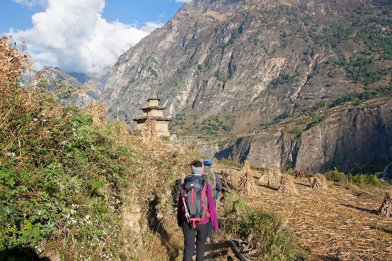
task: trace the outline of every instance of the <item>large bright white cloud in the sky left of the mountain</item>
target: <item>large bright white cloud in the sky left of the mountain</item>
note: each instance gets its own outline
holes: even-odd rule
[[[30,43],[37,68],[49,65],[69,72],[97,72],[113,66],[129,47],[162,26],[148,22],[138,29],[135,24],[109,23],[101,17],[104,6],[105,0],[48,0],[46,10],[32,16],[32,28],[10,29],[10,34]]]

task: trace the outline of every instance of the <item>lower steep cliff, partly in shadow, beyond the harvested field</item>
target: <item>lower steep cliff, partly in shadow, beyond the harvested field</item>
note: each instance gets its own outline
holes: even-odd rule
[[[345,172],[381,170],[392,162],[392,100],[332,113],[302,134],[283,128],[227,141],[217,158],[247,159],[255,166],[286,166],[305,172],[337,167]],[[199,149],[204,152],[202,146]]]

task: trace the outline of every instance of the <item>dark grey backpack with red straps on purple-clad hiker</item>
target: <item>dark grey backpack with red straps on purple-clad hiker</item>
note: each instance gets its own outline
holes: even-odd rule
[[[196,222],[210,217],[207,203],[207,183],[202,176],[191,175],[185,178],[183,188],[189,219],[196,229]]]

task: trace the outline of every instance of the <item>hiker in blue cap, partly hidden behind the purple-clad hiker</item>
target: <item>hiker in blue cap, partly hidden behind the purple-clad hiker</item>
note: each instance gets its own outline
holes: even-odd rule
[[[205,181],[207,181],[211,185],[212,195],[214,197],[214,203],[218,200],[219,192],[222,190],[222,183],[219,177],[218,172],[215,172],[212,168],[212,160],[205,159],[203,161],[204,164],[204,174],[203,177]],[[209,228],[207,231],[207,244],[214,243],[214,239],[212,238],[212,224],[209,223]]]

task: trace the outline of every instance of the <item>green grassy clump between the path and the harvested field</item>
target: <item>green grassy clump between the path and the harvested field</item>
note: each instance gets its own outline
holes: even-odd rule
[[[275,214],[249,207],[239,197],[227,204],[223,230],[233,238],[244,239],[253,229],[253,249],[259,249],[254,257],[259,260],[305,260],[307,254],[285,229],[285,222]]]

